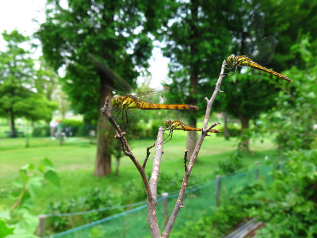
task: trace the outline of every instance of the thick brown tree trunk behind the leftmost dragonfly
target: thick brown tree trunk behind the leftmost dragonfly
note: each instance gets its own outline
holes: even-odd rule
[[[102,108],[105,105],[106,96],[111,97],[111,90],[106,87],[109,83],[105,75],[100,75],[101,91],[100,91],[100,105]],[[110,107],[111,105],[109,105]],[[99,113],[98,115],[98,131],[97,131],[97,157],[94,175],[97,177],[104,177],[111,174],[111,158],[110,158],[110,138],[109,131],[111,126],[106,117]]]

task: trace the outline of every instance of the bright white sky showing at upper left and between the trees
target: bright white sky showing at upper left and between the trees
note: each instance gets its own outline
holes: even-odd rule
[[[39,24],[32,19],[36,19],[40,23],[45,21],[45,4],[46,0],[0,0],[0,33],[4,30],[11,32],[17,29],[24,35],[32,35],[39,29]],[[0,50],[2,44],[2,36],[0,35]],[[154,49],[153,57],[149,63],[152,74],[150,86],[158,87],[167,77],[168,59],[162,56],[160,50]]]

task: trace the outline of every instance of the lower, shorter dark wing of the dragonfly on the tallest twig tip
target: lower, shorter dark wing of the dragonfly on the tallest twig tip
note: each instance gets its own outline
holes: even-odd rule
[[[265,37],[257,47],[257,49],[250,55],[250,59],[259,63],[260,65],[265,65],[269,63],[274,56],[274,49],[276,45],[276,40],[274,36]]]

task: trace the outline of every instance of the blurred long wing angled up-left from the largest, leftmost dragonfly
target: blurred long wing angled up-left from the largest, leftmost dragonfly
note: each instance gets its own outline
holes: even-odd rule
[[[118,83],[118,85],[128,94],[132,94],[133,88],[132,86],[125,81],[119,74],[114,72],[111,68],[106,66],[102,61],[98,60],[94,55],[88,54],[90,60],[93,61],[107,76],[109,76],[114,82]]]

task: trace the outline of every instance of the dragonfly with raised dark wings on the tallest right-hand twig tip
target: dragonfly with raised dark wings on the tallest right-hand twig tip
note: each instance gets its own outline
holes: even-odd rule
[[[263,12],[256,11],[250,20],[249,37],[246,41],[243,56],[228,56],[227,63],[231,64],[230,70],[234,69],[233,75],[237,67],[249,66],[253,78],[262,78],[266,73],[282,78],[288,82],[292,80],[280,73],[265,68],[265,65],[271,61],[275,49],[275,37],[264,35],[264,16]]]

